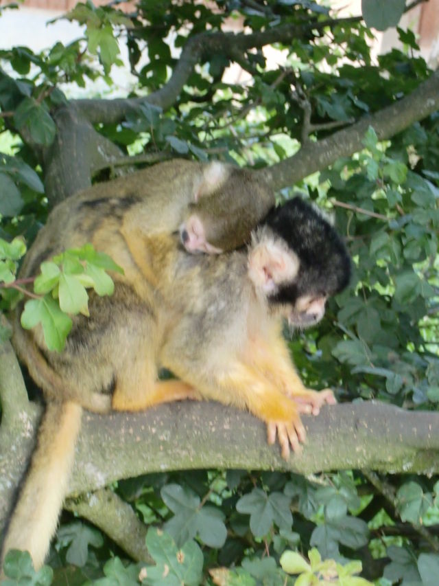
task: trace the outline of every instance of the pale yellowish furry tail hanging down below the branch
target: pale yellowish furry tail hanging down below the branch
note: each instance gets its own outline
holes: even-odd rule
[[[82,407],[49,403],[38,431],[36,449],[23,480],[1,548],[27,550],[36,568],[43,565],[69,483]]]

